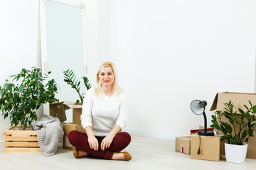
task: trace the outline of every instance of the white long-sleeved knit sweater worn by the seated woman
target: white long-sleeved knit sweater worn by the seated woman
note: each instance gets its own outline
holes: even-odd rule
[[[101,98],[95,95],[95,88],[87,91],[82,105],[81,124],[85,128],[92,127],[95,136],[107,136],[119,125],[124,128],[127,122],[129,101],[127,94],[123,91],[117,99],[103,95]]]

